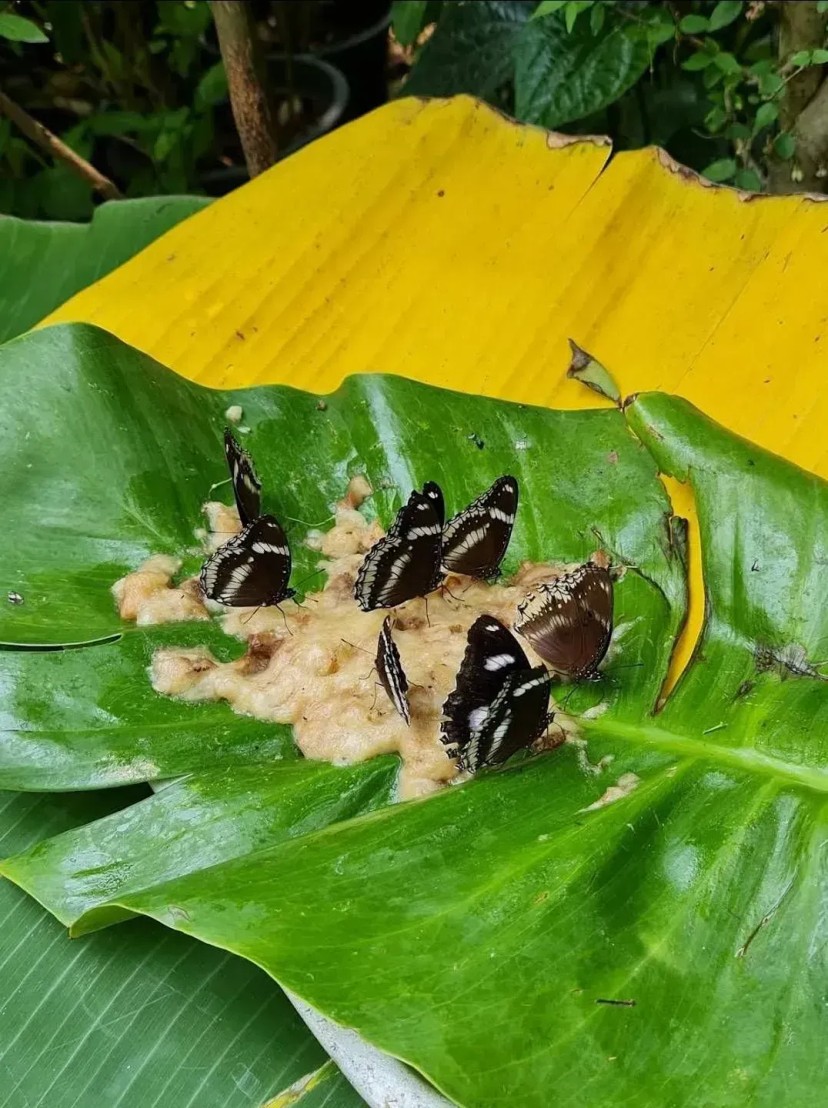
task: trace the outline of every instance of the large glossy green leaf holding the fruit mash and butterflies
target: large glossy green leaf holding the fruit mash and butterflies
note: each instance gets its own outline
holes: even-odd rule
[[[0,782],[188,774],[2,872],[76,934],[140,913],[241,954],[462,1105],[818,1100],[824,482],[658,393],[563,413],[375,376],[319,404],[202,389],[90,328],[6,347],[0,389],[0,564],[24,597]],[[314,766],[284,729],[147,695],[155,644],[219,633],[122,625],[108,586],[193,545],[229,403],[283,517],[324,520],[355,472],[387,522],[429,478],[454,504],[510,471],[507,572],[597,545],[625,565],[606,677],[568,701],[580,741],[389,806],[387,760]],[[685,568],[658,472],[692,483],[707,601],[661,710]],[[96,645],[31,649],[60,643]]]

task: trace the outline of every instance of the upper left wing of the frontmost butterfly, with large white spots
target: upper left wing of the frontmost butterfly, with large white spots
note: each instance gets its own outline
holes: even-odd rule
[[[467,747],[505,679],[528,669],[529,660],[509,628],[493,616],[479,616],[469,628],[457,683],[442,706],[443,743]]]

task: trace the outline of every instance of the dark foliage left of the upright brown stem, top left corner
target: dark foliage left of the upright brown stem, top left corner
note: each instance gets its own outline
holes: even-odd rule
[[[216,110],[227,95],[203,44],[209,23],[203,0],[18,4],[0,17],[2,86],[125,195],[203,192],[198,171],[221,153]],[[0,158],[0,211],[91,215],[89,185],[2,116]]]

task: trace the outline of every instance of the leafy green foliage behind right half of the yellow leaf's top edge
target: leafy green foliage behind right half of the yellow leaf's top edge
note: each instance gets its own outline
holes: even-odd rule
[[[403,0],[393,25],[413,44],[431,21],[409,93],[473,93],[527,123],[610,134],[620,150],[655,143],[742,188],[789,191],[807,177],[822,191],[821,161],[801,164],[793,109],[825,83],[826,12],[825,2]]]

